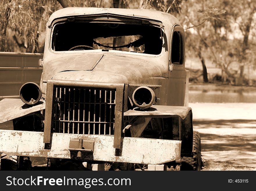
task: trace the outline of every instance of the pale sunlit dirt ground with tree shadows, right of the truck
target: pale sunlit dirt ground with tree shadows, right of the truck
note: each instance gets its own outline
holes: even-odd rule
[[[189,103],[204,170],[256,170],[256,103]]]

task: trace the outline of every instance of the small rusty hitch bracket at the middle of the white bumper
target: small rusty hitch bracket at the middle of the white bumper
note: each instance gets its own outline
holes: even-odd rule
[[[69,142],[70,158],[93,160],[94,141],[71,139]]]

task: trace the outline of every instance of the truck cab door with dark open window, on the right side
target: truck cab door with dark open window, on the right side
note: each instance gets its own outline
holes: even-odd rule
[[[167,105],[184,106],[186,88],[185,33],[181,26],[175,26],[171,36],[168,81]]]

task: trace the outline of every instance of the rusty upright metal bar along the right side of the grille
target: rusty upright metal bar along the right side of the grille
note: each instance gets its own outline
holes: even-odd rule
[[[116,88],[115,97],[115,127],[114,127],[114,148],[121,148],[121,133],[124,113],[124,88]]]

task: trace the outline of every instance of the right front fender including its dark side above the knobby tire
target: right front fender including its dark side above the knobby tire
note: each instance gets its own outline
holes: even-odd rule
[[[177,131],[175,133],[176,137],[166,137],[166,139],[182,141],[182,156],[190,156],[192,154],[193,120],[192,109],[190,107],[153,105],[147,110],[140,110],[139,108],[128,110],[124,112],[124,116],[134,116],[135,118],[123,129],[123,133],[129,128],[133,128],[135,120],[140,118],[162,118],[164,128],[168,129],[168,131]],[[141,133],[144,128],[139,129],[139,133]],[[170,132],[170,134],[173,133],[174,132]]]

